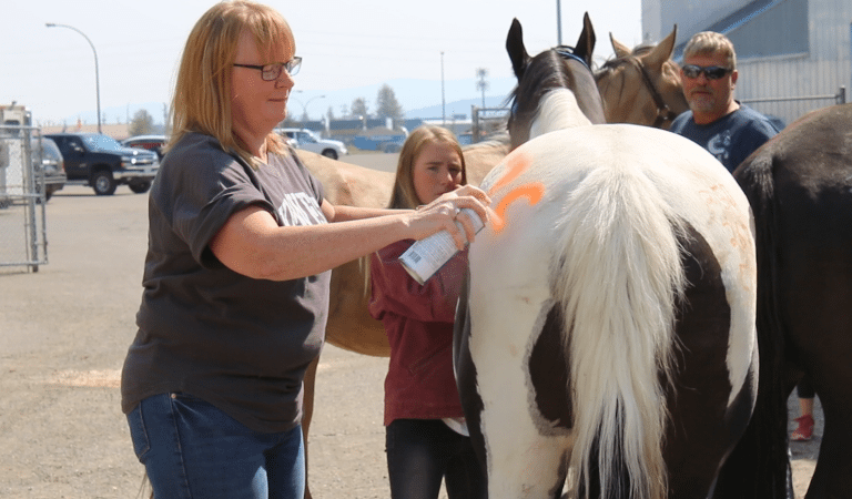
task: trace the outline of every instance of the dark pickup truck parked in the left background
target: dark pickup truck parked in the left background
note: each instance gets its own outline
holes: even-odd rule
[[[125,147],[98,133],[50,133],[65,160],[68,184],[90,185],[99,196],[112,195],[119,184],[136,194],[148,192],[160,169],[156,154]]]

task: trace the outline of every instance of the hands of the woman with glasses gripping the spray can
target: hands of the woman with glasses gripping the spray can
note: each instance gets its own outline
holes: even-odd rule
[[[429,204],[418,206],[410,215],[410,226],[415,230],[417,240],[427,237],[439,231],[447,231],[456,242],[456,247],[464,249],[476,235],[474,221],[463,208],[473,210],[483,223],[488,221],[488,204],[491,200],[478,187],[463,185],[443,194]],[[462,228],[456,225],[462,224]]]

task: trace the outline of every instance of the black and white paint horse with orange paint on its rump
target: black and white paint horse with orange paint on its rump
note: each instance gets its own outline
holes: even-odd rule
[[[481,186],[455,363],[488,493],[707,498],[757,391],[749,205],[703,149],[607,125],[577,47],[527,54]]]

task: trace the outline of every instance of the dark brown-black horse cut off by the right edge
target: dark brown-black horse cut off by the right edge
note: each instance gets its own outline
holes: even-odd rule
[[[852,104],[799,119],[733,176],[754,212],[761,384],[730,462],[757,479],[729,497],[785,497],[787,399],[807,373],[825,416],[807,498],[852,498]]]

